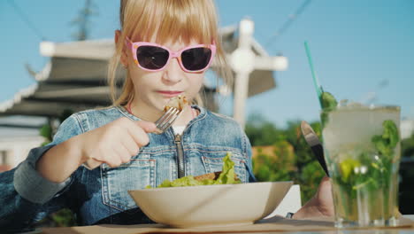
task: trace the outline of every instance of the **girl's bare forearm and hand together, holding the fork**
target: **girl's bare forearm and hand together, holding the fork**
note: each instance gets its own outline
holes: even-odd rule
[[[118,167],[148,144],[148,133],[156,129],[152,122],[120,118],[53,146],[37,161],[36,170],[51,182],[62,183],[87,161],[91,168],[102,163]]]

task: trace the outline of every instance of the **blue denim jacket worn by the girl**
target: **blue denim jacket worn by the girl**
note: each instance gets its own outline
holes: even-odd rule
[[[63,207],[73,210],[79,225],[149,223],[128,190],[220,171],[226,152],[232,153],[242,182],[255,181],[251,146],[240,125],[197,105],[192,107],[200,114],[182,135],[175,135],[172,128],[161,135],[150,133],[149,144],[119,168],[106,164],[94,170],[80,167],[65,182],[52,183],[35,170],[36,161],[51,147],[120,117],[139,120],[119,106],[74,113],[60,125],[53,142],[31,150],[17,168],[0,174],[0,228],[26,227]]]

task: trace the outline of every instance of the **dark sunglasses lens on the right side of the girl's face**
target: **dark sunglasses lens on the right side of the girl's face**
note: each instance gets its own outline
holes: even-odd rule
[[[193,48],[181,53],[182,65],[188,71],[203,70],[209,65],[211,50],[209,48]]]

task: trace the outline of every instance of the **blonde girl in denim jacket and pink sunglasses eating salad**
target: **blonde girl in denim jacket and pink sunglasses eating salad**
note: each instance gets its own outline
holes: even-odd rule
[[[249,139],[230,118],[188,105],[173,128],[154,133],[170,98],[196,103],[212,60],[226,67],[216,19],[211,0],[121,0],[109,80],[115,87],[123,66],[122,92],[111,107],[73,114],[52,143],[0,176],[0,227],[28,226],[63,207],[80,225],[148,223],[128,190],[219,171],[226,152],[242,182],[253,182]],[[297,216],[332,214],[325,200],[317,194]]]

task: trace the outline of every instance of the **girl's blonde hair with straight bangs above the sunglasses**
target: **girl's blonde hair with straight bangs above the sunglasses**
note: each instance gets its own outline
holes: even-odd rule
[[[126,73],[122,91],[117,94],[117,69],[125,46],[126,36],[139,41],[149,41],[157,34],[156,43],[182,40],[190,43],[216,43],[217,53],[212,69],[227,85],[233,84],[233,76],[226,65],[221,46],[217,13],[213,0],[120,0],[119,21],[121,33],[115,53],[108,68],[108,83],[111,87],[112,105],[126,105],[134,98],[133,82]],[[196,103],[202,105],[201,97]]]

